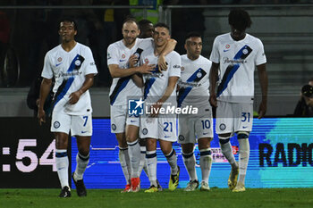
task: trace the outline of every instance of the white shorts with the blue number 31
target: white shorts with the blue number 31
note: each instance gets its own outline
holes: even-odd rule
[[[217,102],[216,134],[251,131],[253,104]]]

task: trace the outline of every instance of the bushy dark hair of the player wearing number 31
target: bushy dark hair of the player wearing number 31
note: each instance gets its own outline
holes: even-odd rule
[[[242,9],[233,9],[228,14],[228,23],[234,29],[245,30],[251,27],[252,21],[248,12]]]

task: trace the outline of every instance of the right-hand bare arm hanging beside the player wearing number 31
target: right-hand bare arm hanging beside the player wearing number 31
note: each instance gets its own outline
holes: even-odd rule
[[[261,91],[262,91],[262,100],[258,107],[258,119],[261,119],[266,114],[268,79],[267,79],[267,72],[266,72],[266,64],[264,63],[261,65],[258,65],[257,68],[258,68],[259,84],[261,86]]]

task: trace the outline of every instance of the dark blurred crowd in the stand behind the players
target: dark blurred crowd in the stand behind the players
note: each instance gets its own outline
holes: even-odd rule
[[[160,4],[303,4],[306,0],[3,0],[7,5],[153,5],[148,19],[157,23]],[[187,12],[188,11],[188,12]],[[172,37],[178,42],[176,51],[184,53],[181,38],[189,31],[205,30],[203,9],[173,10]],[[140,13],[141,12],[141,13]],[[151,15],[150,15],[151,14]],[[0,9],[0,85],[1,87],[28,87],[42,71],[44,54],[59,43],[57,22],[62,16],[71,16],[78,22],[78,42],[91,48],[97,63],[97,87],[109,87],[111,77],[106,66],[106,47],[122,38],[123,20],[143,17],[140,9]],[[194,24],[192,22],[198,22]],[[5,62],[5,64],[4,64]]]

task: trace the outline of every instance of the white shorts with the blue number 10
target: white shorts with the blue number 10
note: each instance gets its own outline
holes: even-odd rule
[[[197,115],[178,116],[178,143],[197,143],[197,139],[213,137],[212,108],[207,105],[199,107]]]

